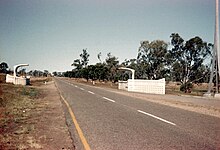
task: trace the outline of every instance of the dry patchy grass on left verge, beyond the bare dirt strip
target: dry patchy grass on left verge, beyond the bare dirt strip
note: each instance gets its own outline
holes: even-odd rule
[[[34,130],[28,120],[41,91],[31,86],[0,84],[0,149],[25,149],[24,137]]]

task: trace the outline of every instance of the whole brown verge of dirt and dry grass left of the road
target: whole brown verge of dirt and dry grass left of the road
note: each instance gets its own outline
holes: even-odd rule
[[[0,149],[74,149],[53,82],[0,87]]]

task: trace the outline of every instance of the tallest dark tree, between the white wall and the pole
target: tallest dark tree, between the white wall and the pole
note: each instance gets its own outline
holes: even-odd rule
[[[170,38],[173,47],[169,55],[175,81],[196,81],[207,74],[207,66],[203,63],[211,55],[211,44],[207,44],[198,36],[184,42],[178,33],[171,34]]]

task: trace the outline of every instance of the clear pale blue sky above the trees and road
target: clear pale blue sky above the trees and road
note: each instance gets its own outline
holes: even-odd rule
[[[0,0],[0,62],[62,72],[87,49],[89,64],[122,63],[172,33],[214,43],[214,27],[215,0]]]

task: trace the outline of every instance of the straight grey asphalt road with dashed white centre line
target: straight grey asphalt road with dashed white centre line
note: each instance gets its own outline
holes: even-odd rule
[[[94,150],[220,149],[220,119],[55,78],[82,133],[67,115],[76,145]]]

